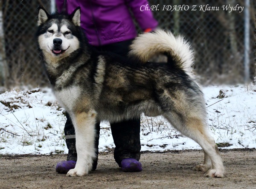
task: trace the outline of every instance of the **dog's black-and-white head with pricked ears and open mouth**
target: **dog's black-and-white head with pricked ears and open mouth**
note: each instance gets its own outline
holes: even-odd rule
[[[62,59],[79,49],[80,8],[72,14],[48,14],[38,8],[38,45],[49,58]]]

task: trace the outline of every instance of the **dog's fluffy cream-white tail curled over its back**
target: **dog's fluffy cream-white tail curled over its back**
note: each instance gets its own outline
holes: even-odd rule
[[[152,33],[140,34],[130,46],[130,55],[137,56],[140,61],[147,62],[156,54],[165,54],[168,62],[193,75],[193,51],[183,37],[175,37],[170,31],[157,30]]]

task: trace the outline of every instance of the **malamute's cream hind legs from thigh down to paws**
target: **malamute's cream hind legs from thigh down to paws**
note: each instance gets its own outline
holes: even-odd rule
[[[185,116],[184,113],[171,112],[165,117],[180,133],[196,141],[204,150],[204,164],[196,166],[195,169],[207,171],[207,177],[223,177],[224,166],[218,147],[209,135],[205,121],[195,116],[195,113],[192,114],[193,116],[189,116],[187,113]]]

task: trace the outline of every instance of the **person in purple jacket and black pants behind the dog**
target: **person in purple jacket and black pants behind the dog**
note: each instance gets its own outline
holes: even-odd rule
[[[140,28],[149,32],[157,27],[151,11],[141,11],[147,6],[147,0],[56,0],[58,11],[65,8],[71,14],[77,7],[81,8],[81,28],[87,36],[90,45],[99,51],[110,51],[121,56],[127,56],[132,40],[137,31],[130,14],[134,14]],[[99,145],[99,123],[96,124],[96,150]],[[140,160],[140,119],[111,123],[113,141],[116,145],[114,158],[124,172],[142,171]],[[69,150],[67,161],[58,162],[56,171],[67,173],[76,165],[76,138],[70,116],[64,127],[66,144]],[[97,166],[93,162],[93,170]]]

